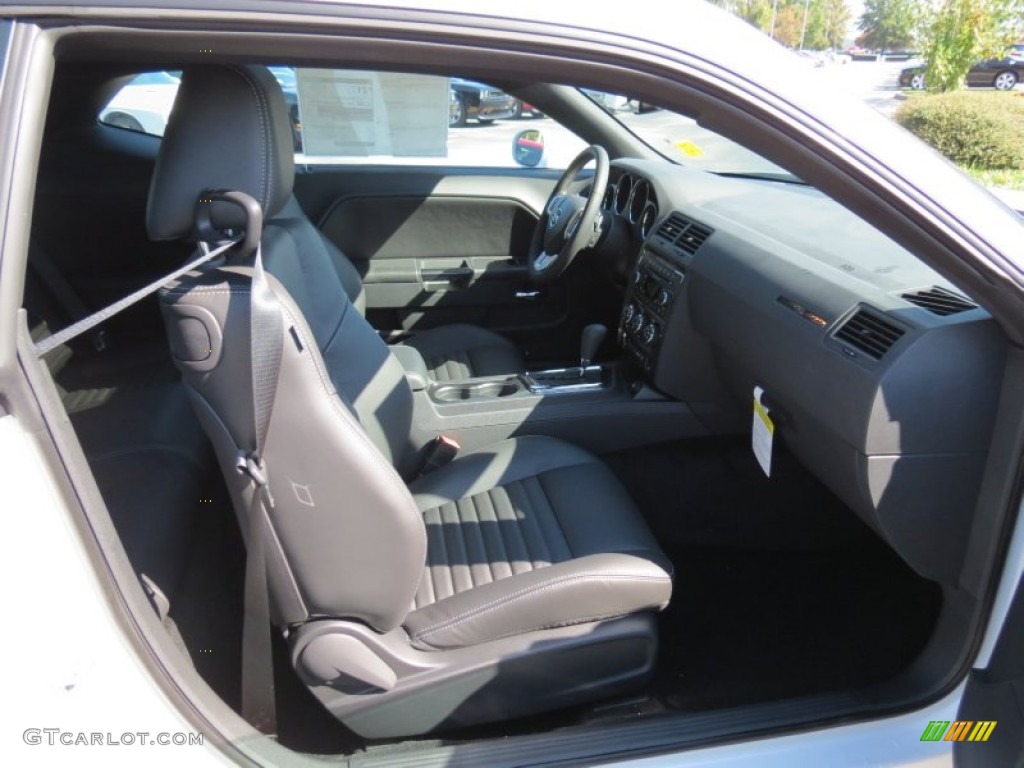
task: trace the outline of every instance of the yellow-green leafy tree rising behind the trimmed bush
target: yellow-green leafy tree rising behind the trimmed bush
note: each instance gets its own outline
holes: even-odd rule
[[[925,33],[928,89],[962,87],[976,61],[1004,55],[1022,18],[1024,0],[945,0]]]

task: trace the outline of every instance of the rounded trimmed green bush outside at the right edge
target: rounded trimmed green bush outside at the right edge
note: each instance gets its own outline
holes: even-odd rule
[[[1024,94],[922,95],[903,103],[896,121],[957,165],[1024,170]]]

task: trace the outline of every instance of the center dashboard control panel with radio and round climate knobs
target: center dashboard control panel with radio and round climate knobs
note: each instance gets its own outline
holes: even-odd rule
[[[645,373],[657,366],[662,338],[683,279],[682,264],[650,248],[641,249],[623,305],[618,343]]]

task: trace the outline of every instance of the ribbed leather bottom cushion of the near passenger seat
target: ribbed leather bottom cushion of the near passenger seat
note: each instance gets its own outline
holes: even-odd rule
[[[664,607],[672,565],[597,458],[549,437],[467,455],[410,488],[427,562],[404,627],[454,648]]]

